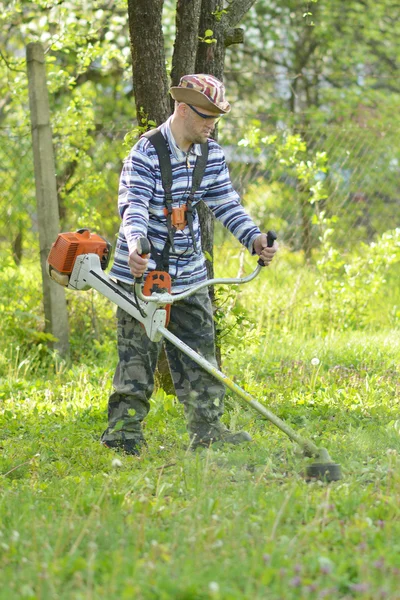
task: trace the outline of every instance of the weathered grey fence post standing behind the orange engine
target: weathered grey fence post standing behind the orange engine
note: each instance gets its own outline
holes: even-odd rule
[[[60,230],[56,168],[50,127],[49,98],[43,46],[33,42],[26,47],[29,106],[35,168],[36,204],[39,224],[45,331],[57,338],[54,348],[68,355],[68,313],[65,290],[47,274],[46,259]]]

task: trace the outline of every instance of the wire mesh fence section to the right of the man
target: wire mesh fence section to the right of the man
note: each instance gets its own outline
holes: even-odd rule
[[[281,137],[285,131],[279,132]],[[271,222],[280,237],[293,250],[308,243],[318,245],[316,214],[335,216],[340,244],[352,246],[371,241],[375,236],[399,224],[400,215],[400,145],[397,131],[375,131],[360,127],[325,127],[303,132],[312,161],[317,153],[326,153],[327,170],[317,173],[326,199],[318,206],[310,203],[312,194],[305,191],[294,173],[282,167],[273,149],[255,157],[240,149],[229,149],[232,179],[246,201],[256,201],[254,217]],[[308,239],[308,242],[307,242]]]

